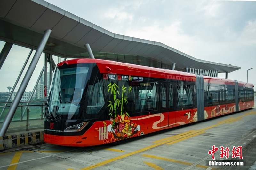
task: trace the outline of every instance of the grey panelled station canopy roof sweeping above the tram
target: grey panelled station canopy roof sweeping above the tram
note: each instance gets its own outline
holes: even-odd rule
[[[196,59],[163,43],[112,33],[43,0],[8,0],[0,5],[0,39],[36,49],[44,31],[52,33],[44,52],[68,58],[88,57],[169,68],[233,72],[240,67]]]

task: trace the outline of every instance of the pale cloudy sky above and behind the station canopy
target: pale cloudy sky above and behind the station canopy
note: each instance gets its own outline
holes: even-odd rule
[[[256,85],[256,1],[46,1],[112,33],[161,42],[197,59],[241,67],[229,73],[229,79],[247,82],[247,70],[253,68],[248,79]],[[3,45],[0,42],[0,49]],[[0,92],[13,86],[29,51],[12,48],[0,70]],[[17,60],[17,55],[22,57]],[[54,60],[57,63],[57,57]],[[43,64],[42,55],[26,91],[32,91]]]

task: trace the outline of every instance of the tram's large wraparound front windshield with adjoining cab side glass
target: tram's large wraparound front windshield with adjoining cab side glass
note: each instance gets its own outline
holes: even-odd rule
[[[46,118],[51,121],[96,118],[104,105],[99,75],[99,69],[93,63],[57,67]]]

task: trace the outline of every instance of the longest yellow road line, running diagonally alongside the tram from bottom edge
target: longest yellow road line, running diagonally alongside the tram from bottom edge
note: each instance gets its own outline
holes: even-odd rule
[[[248,113],[248,114],[245,114],[245,115],[243,115],[243,116],[240,116],[240,117],[244,117],[244,116],[246,116],[246,115],[251,115],[251,114],[252,114],[252,112],[250,112],[250,113]],[[213,127],[219,126],[219,125],[224,124],[225,122],[229,122],[229,121],[231,121],[231,120],[230,120],[230,119],[227,119],[227,120],[225,120],[225,121],[221,121],[221,123],[218,123],[218,124],[209,126],[209,127],[207,127],[207,128],[204,128],[204,129],[197,130],[197,131],[193,132],[193,134],[197,134],[197,133],[198,133],[198,135],[199,135],[199,134],[201,134],[201,133],[204,133],[204,130],[211,129],[211,128],[213,128]],[[191,134],[192,134],[192,133],[191,133]],[[188,134],[188,135],[191,135],[191,134]],[[184,135],[184,136],[186,136],[186,135]],[[182,136],[182,137],[184,137],[184,136]],[[193,135],[191,135],[191,136],[193,136]],[[195,135],[194,135],[194,136],[195,136]],[[179,138],[179,137],[176,137],[176,138]],[[180,137],[180,138],[181,138],[181,137]],[[179,141],[182,141],[182,139],[185,140],[185,138],[181,138]],[[98,164],[85,167],[85,168],[83,168],[83,169],[81,169],[81,170],[93,169],[93,168],[96,168],[96,167],[98,167],[98,166],[102,166],[102,165],[108,164],[108,163],[110,163],[110,162],[113,162],[113,161],[116,161],[116,160],[119,160],[119,159],[122,159],[122,158],[125,158],[125,157],[128,157],[128,156],[131,156],[131,155],[134,155],[134,154],[137,154],[137,153],[146,151],[146,150],[148,150],[148,149],[152,149],[152,148],[154,148],[154,147],[156,147],[156,146],[159,146],[159,145],[162,145],[162,144],[166,144],[166,143],[169,143],[169,142],[172,142],[172,141],[173,141],[173,139],[166,140],[166,141],[164,141],[164,142],[159,142],[159,143],[157,143],[157,144],[153,144],[153,145],[151,145],[151,146],[147,146],[147,147],[142,148],[142,149],[139,149],[139,150],[137,150],[137,151],[133,151],[133,152],[130,152],[130,153],[126,153],[126,154],[124,154],[124,155],[121,155],[121,156],[118,156],[118,157],[115,157],[115,158],[112,158],[112,159],[105,160],[105,161],[100,162],[100,163],[98,163]],[[175,142],[175,141],[174,141],[174,142]],[[176,143],[176,142],[175,142],[175,143]]]

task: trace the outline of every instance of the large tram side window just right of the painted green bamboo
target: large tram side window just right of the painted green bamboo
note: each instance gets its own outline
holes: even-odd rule
[[[132,82],[133,113],[157,110],[157,84]]]

